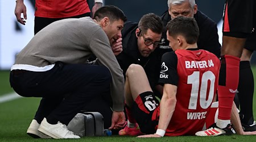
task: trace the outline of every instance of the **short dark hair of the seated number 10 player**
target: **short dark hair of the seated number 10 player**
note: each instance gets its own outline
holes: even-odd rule
[[[199,27],[195,18],[178,16],[167,23],[166,29],[172,37],[182,35],[188,44],[194,44],[199,37]]]

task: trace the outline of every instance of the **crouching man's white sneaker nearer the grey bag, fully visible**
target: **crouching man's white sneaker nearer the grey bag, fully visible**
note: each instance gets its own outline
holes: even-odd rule
[[[80,136],[69,131],[65,124],[58,122],[57,124],[49,124],[46,118],[40,124],[38,131],[51,136],[54,139],[80,139]]]

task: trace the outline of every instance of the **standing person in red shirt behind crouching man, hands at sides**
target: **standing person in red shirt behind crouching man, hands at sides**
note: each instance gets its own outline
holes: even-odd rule
[[[38,33],[42,28],[56,20],[66,18],[81,18],[90,16],[90,9],[87,0],[82,1],[63,1],[63,0],[36,0],[35,1],[35,27],[34,34]],[[102,7],[102,0],[95,0],[92,8],[92,16],[94,12]],[[21,14],[23,13],[23,18]],[[16,0],[15,7],[16,19],[19,23],[25,24],[27,19],[26,6],[23,0]]]

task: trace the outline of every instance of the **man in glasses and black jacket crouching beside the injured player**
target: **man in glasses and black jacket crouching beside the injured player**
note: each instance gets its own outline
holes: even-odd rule
[[[160,16],[143,15],[139,23],[127,22],[122,30],[123,51],[117,56],[117,61],[125,76],[131,64],[141,65],[148,77],[152,89],[158,81],[159,72],[156,56],[151,53],[161,44],[163,24]]]

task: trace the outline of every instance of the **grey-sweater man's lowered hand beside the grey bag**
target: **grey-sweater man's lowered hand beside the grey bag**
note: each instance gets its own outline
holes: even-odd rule
[[[112,114],[112,124],[109,127],[110,130],[112,129],[121,129],[123,128],[123,125],[125,124],[125,113],[123,111],[113,111]]]

